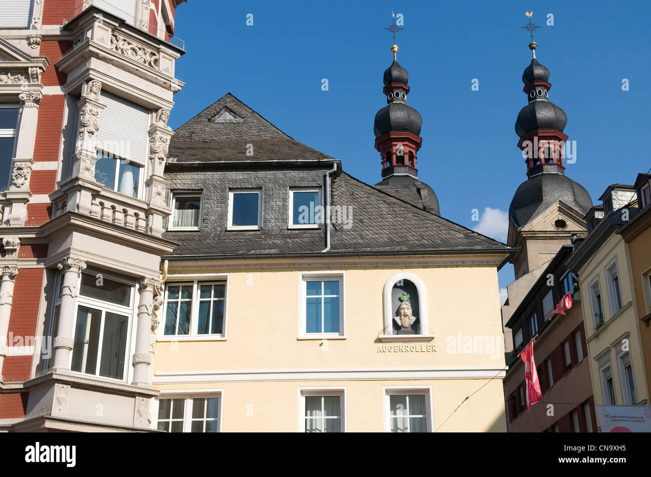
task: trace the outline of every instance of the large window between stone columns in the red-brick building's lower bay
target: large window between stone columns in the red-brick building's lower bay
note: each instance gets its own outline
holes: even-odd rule
[[[126,379],[133,285],[82,273],[74,323],[72,371]]]

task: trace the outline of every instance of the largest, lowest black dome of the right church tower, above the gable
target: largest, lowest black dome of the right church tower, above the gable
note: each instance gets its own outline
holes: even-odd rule
[[[539,174],[519,185],[508,208],[508,217],[518,227],[527,225],[557,200],[562,200],[582,215],[592,207],[592,198],[583,185],[563,174]]]

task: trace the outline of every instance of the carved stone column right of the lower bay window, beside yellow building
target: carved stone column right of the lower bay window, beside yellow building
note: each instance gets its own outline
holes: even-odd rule
[[[133,386],[151,387],[149,368],[153,357],[149,351],[152,320],[154,320],[154,295],[160,293],[158,279],[142,277],[138,280],[140,300],[138,303],[138,323],[135,334],[135,353],[133,353]]]

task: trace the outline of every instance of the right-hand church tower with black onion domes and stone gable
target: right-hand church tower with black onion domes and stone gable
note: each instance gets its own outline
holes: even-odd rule
[[[528,27],[535,25],[530,21]],[[527,167],[527,180],[508,210],[507,243],[520,249],[512,258],[516,280],[553,258],[562,245],[571,243],[572,235],[585,232],[583,217],[592,207],[586,189],[565,175],[567,116],[549,101],[549,70],[536,59],[537,46],[532,36],[533,58],[522,74],[528,103],[515,126]]]

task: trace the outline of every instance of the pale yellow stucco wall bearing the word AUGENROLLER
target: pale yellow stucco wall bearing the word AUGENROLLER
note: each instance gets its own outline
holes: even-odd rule
[[[342,267],[302,271],[340,271]],[[399,271],[414,273],[424,282],[432,341],[382,342],[383,288]],[[195,270],[196,272],[196,270]],[[176,282],[170,271],[168,283]],[[201,273],[229,273],[201,269]],[[370,266],[345,268],[346,339],[299,340],[299,269],[259,268],[230,271],[227,287],[227,340],[169,342],[159,338],[154,357],[154,385],[161,390],[219,388],[224,390],[223,431],[296,431],[299,387],[346,387],[348,431],[383,430],[383,386],[432,386],[434,427],[466,396],[482,387],[487,376],[505,366],[499,311],[497,268],[493,266],[430,266],[403,269]],[[161,310],[162,311],[162,310]],[[161,314],[161,320],[164,315]],[[162,329],[162,325],[159,328]],[[482,337],[495,349],[452,346],[448,337]],[[467,339],[467,338],[466,338]],[[478,338],[477,338],[478,339]],[[463,343],[463,342],[462,342]],[[436,352],[378,352],[384,346],[436,345]],[[467,342],[465,342],[467,344]],[[461,352],[460,352],[461,351]],[[464,352],[465,351],[465,352]],[[479,352],[481,351],[481,352]],[[324,379],[322,381],[224,382],[225,371],[337,372],[338,370],[425,370],[449,373],[441,379]],[[464,372],[480,370],[468,379]],[[178,372],[174,377],[165,373]],[[203,382],[187,373],[206,372]],[[210,373],[216,372],[212,378]],[[395,374],[395,373],[394,373]],[[445,379],[458,375],[464,379]],[[407,375],[406,375],[407,376]],[[483,378],[483,379],[482,379]],[[236,378],[240,379],[240,378]],[[201,380],[201,379],[200,379]],[[245,379],[242,378],[242,381]],[[441,431],[506,431],[504,394],[500,377],[464,403]],[[246,405],[253,405],[253,416]]]

